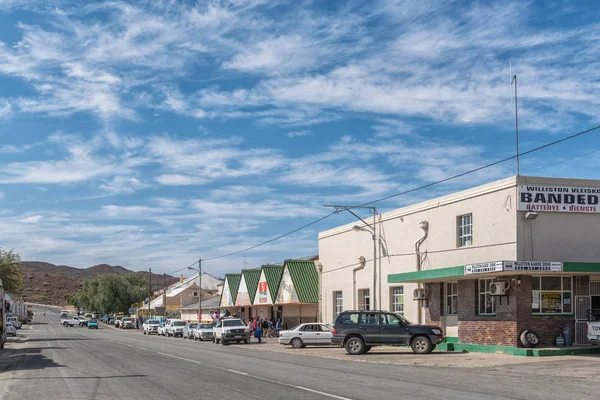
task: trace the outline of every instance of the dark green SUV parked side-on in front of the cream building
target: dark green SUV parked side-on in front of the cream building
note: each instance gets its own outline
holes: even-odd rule
[[[350,355],[363,354],[373,346],[410,346],[414,353],[431,353],[445,339],[434,325],[414,325],[400,314],[387,311],[344,311],[335,320],[331,342]]]

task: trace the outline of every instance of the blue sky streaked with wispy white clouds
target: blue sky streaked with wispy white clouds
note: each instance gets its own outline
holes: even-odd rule
[[[172,271],[302,226],[323,204],[510,156],[511,64],[521,151],[587,129],[599,123],[598,17],[592,1],[0,0],[0,246]],[[596,149],[592,133],[521,171],[600,178]],[[319,231],[351,221],[247,263],[315,254]],[[243,266],[242,254],[206,264]]]

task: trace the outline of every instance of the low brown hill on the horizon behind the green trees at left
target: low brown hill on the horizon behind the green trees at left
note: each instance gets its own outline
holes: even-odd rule
[[[65,305],[65,299],[81,288],[83,281],[103,274],[130,274],[120,265],[94,265],[89,268],[74,268],[41,261],[23,261],[23,300],[32,303]],[[138,272],[148,279],[148,272]],[[172,285],[179,279],[173,276],[152,274],[152,289]]]

